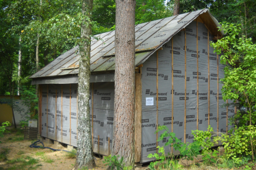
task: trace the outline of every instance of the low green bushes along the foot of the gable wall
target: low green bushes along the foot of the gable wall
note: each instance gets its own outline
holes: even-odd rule
[[[194,142],[185,144],[177,139],[175,133],[169,132],[166,126],[158,126],[158,130],[155,133],[159,131],[163,131],[163,133],[157,141],[159,142],[163,140],[163,138],[166,138],[168,142],[166,142],[164,146],[174,147],[175,150],[179,150],[181,159],[194,160],[194,158],[201,154],[205,166],[214,165],[220,168],[230,169],[243,165],[249,166],[248,161],[251,160],[249,148],[250,136],[253,138],[256,136],[255,127],[247,129],[240,127],[237,128],[232,135],[224,133],[222,136],[216,136],[217,133],[214,133],[212,127],[209,126],[206,131],[192,130]],[[218,142],[223,143],[224,153],[221,153],[220,150],[212,149],[214,143],[218,144]],[[256,144],[256,141],[253,142]],[[149,165],[151,170],[155,170],[156,167],[160,169],[166,169],[168,167],[170,170],[175,170],[176,167],[182,168],[177,164],[177,160],[175,160],[173,155],[169,154],[169,157],[166,157],[164,147],[157,146],[157,149],[158,153],[148,155],[148,158],[156,158],[156,161],[151,162]],[[247,157],[241,157],[242,154]],[[238,156],[240,156],[241,159]],[[163,162],[166,163],[163,164]],[[172,165],[170,165],[170,162]],[[246,170],[250,170],[250,166],[248,168],[249,169]]]

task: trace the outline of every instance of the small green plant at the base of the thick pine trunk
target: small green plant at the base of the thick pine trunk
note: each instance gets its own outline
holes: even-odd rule
[[[125,162],[123,162],[124,158],[120,158],[118,159],[118,156],[105,156],[103,163],[105,163],[105,165],[108,165],[108,167],[111,168],[111,170],[113,170],[114,168],[116,168],[116,170],[132,170],[132,167],[125,167]]]

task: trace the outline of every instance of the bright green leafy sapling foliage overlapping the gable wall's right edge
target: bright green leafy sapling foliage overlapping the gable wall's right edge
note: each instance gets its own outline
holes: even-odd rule
[[[256,44],[251,38],[239,37],[241,28],[235,24],[224,23],[222,28],[227,36],[212,43],[217,54],[221,54],[221,63],[225,68],[223,82],[223,99],[239,100],[247,108],[247,114],[239,115],[244,125],[255,125],[256,111]],[[221,53],[222,52],[222,53]]]

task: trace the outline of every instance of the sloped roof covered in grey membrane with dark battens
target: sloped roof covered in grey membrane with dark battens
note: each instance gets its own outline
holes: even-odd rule
[[[207,16],[205,16],[207,14]],[[218,32],[218,21],[209,13],[209,9],[202,9],[185,14],[163,18],[160,20],[141,23],[135,26],[135,66],[142,64],[157,49],[168,42],[178,31],[185,28],[199,15],[205,18],[206,24],[211,24]],[[209,19],[212,19],[209,23]],[[221,32],[223,34],[223,32]],[[90,52],[91,72],[115,70],[115,31],[98,34],[98,40],[92,38]],[[62,75],[78,74],[79,51],[78,46],[57,57],[30,78],[47,78]]]

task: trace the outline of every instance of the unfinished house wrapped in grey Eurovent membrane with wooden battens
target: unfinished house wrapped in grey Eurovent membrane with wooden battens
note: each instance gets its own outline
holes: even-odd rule
[[[156,153],[157,125],[166,125],[182,142],[193,142],[191,130],[226,132],[234,113],[221,108],[224,65],[211,41],[221,38],[209,9],[135,26],[136,112],[135,162]],[[113,139],[115,31],[91,42],[90,115],[93,152],[109,155]],[[103,41],[102,41],[103,40]],[[42,137],[76,146],[78,47],[32,75],[40,87],[39,131]],[[169,150],[169,148],[166,148]],[[174,154],[178,154],[173,150]]]

